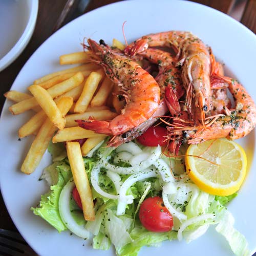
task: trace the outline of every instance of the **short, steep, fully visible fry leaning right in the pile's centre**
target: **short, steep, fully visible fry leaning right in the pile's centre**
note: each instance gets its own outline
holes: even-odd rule
[[[76,113],[83,113],[89,106],[91,99],[98,87],[100,80],[103,78],[104,74],[102,70],[97,72],[92,72],[84,83],[84,87],[81,96],[76,102],[74,111]]]

